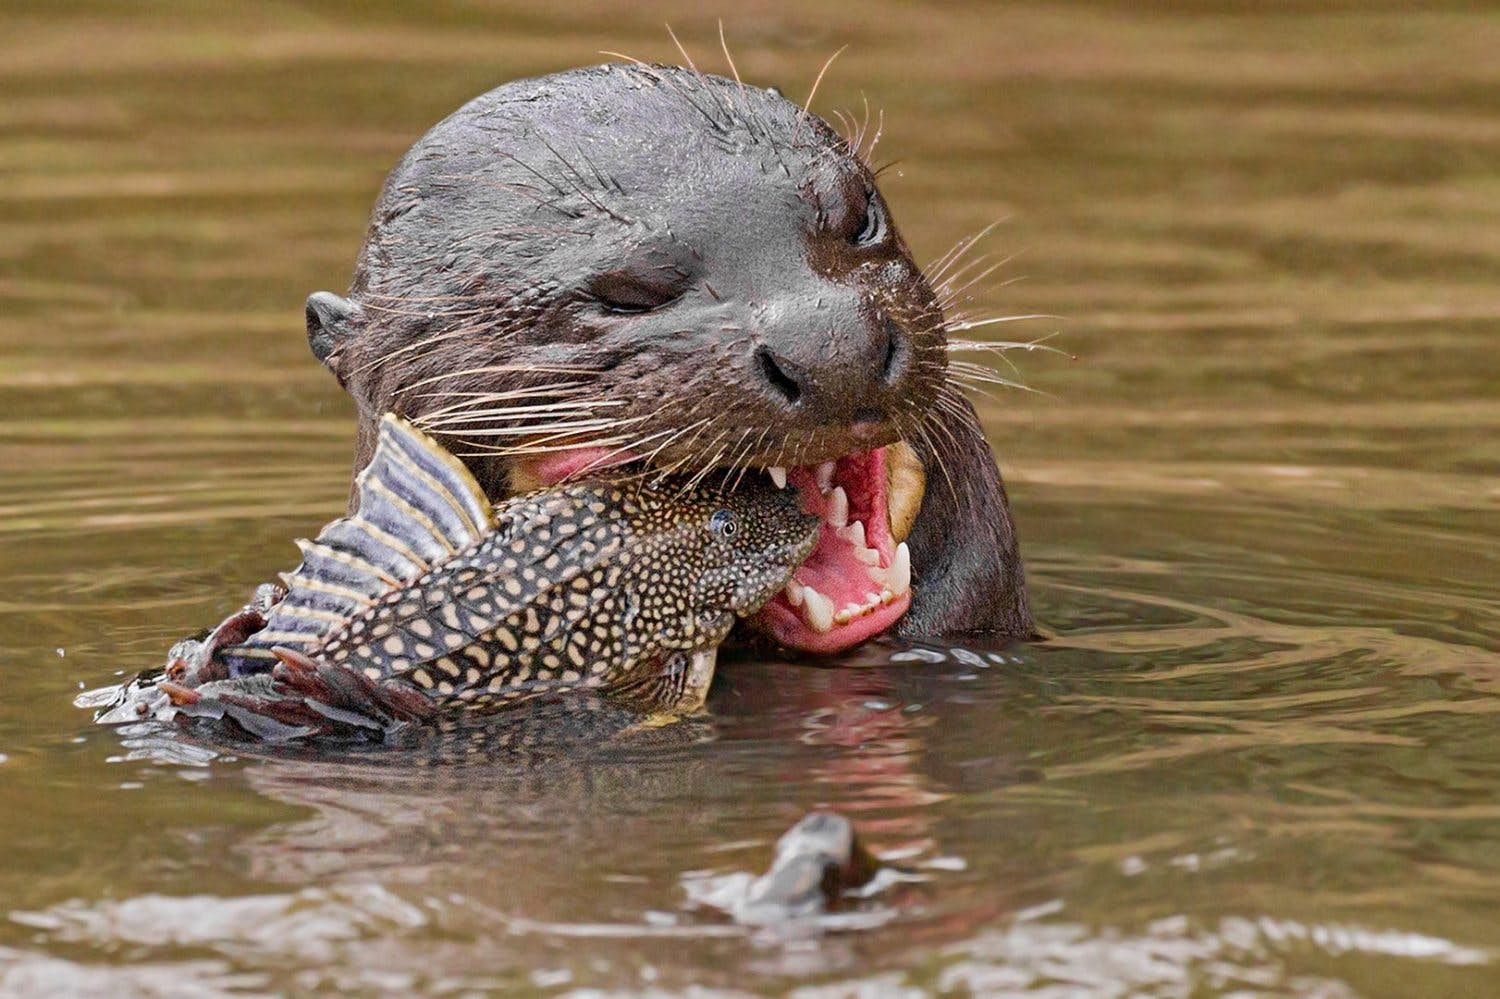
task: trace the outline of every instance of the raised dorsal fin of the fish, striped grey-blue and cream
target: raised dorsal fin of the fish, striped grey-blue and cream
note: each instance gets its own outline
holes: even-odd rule
[[[276,645],[312,652],[382,594],[474,548],[495,528],[484,490],[459,459],[400,417],[386,414],[369,465],[356,477],[357,507],[314,542],[282,576],[286,596],[266,627],[224,650],[236,672],[276,663]]]

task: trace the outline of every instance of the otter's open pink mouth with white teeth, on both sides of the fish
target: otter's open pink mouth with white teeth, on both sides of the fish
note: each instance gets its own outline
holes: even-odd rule
[[[554,484],[628,460],[602,448],[568,450],[530,462],[525,480]],[[807,561],[750,624],[788,648],[830,654],[900,621],[912,603],[906,536],[926,486],[912,448],[897,442],[768,471],[778,486],[798,490],[802,508],[822,518],[822,526]]]

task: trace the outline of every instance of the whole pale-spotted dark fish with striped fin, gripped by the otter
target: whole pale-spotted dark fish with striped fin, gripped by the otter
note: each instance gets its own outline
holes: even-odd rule
[[[765,476],[732,492],[572,483],[494,507],[393,416],[357,496],[351,516],[298,543],[303,561],[264,621],[210,646],[196,672],[222,680],[168,670],[159,717],[228,717],[285,740],[382,738],[576,690],[693,711],[718,644],[786,585],[818,532]]]

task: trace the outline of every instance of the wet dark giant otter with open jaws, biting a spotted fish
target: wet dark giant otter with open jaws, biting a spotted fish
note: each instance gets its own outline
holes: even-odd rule
[[[645,64],[459,108],[386,180],[348,296],[308,300],[356,471],[396,411],[496,500],[626,460],[789,474],[830,524],[758,627],[814,652],[1034,633],[946,328],[849,141],[772,90]]]

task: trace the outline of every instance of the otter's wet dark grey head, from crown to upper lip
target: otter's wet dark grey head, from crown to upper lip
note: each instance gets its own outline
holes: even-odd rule
[[[357,399],[543,478],[566,452],[540,448],[579,444],[684,468],[890,444],[946,357],[848,144],[672,68],[520,81],[438,124],[388,178],[351,298],[315,296],[309,330]]]

